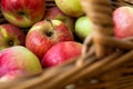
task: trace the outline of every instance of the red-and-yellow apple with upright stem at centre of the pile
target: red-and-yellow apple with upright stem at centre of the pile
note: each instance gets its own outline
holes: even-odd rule
[[[25,47],[41,60],[49,48],[60,41],[74,40],[72,31],[60,20],[42,20],[28,31]]]

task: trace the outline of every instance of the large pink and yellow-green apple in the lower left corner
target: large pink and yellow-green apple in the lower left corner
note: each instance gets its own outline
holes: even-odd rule
[[[41,72],[38,57],[25,47],[14,46],[0,51],[0,81],[12,81]]]

